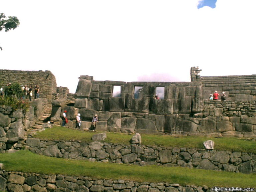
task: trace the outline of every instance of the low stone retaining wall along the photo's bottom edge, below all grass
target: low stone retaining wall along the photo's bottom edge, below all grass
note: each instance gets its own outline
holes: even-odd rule
[[[96,180],[89,177],[45,175],[0,171],[0,191],[55,191],[55,192],[205,192],[207,186],[171,183],[138,183],[125,180]]]

